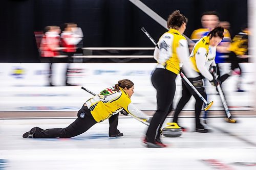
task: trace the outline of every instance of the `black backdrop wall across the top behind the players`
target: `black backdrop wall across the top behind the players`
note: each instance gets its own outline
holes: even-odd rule
[[[247,0],[158,0],[141,1],[165,20],[174,10],[188,17],[184,33],[190,37],[201,27],[201,14],[217,11],[229,21],[231,36],[247,22]],[[0,62],[39,62],[34,31],[49,25],[76,22],[86,47],[153,47],[140,30],[145,27],[158,40],[166,31],[128,0],[27,0],[3,1],[0,7]]]

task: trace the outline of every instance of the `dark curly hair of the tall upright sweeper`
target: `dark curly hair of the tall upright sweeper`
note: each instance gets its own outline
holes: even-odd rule
[[[187,23],[187,18],[179,10],[174,11],[168,16],[167,28],[179,29],[183,23]]]

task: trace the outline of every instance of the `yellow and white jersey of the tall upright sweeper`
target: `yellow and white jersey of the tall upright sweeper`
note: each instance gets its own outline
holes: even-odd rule
[[[157,67],[165,68],[169,71],[179,74],[180,72],[180,58],[184,57],[177,53],[178,47],[187,47],[187,40],[175,29],[170,29],[164,33],[158,41],[159,51],[154,53],[154,58],[158,62]]]

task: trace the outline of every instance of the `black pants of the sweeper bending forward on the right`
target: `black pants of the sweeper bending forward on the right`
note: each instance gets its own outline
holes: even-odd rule
[[[206,98],[206,93],[204,90],[203,80],[201,77],[188,79],[198,90],[198,92],[203,96],[203,98]],[[203,125],[200,123],[200,113],[203,106],[202,99],[198,96],[198,94],[186,83],[184,79],[182,79],[182,97],[177,105],[177,108],[174,113],[174,119],[173,122],[178,123],[178,116],[181,112],[181,110],[184,108],[184,106],[187,104],[191,96],[194,96],[196,99],[195,104],[195,113],[196,113],[196,128],[203,128]]]

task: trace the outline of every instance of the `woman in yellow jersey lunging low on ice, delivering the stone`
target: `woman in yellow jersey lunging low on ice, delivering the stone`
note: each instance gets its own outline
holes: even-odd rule
[[[134,93],[134,83],[131,80],[119,80],[114,87],[101,91],[98,95],[83,104],[77,113],[76,120],[66,128],[41,129],[32,128],[23,134],[24,138],[70,138],[80,135],[90,129],[96,123],[109,119],[109,136],[119,137],[123,134],[117,129],[118,113],[125,109],[137,118],[149,122],[150,117],[137,109],[131,101]]]

